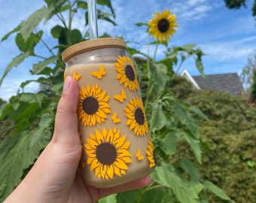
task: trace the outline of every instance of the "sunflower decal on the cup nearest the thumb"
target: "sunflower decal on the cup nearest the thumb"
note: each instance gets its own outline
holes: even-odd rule
[[[96,123],[105,122],[107,114],[111,113],[108,99],[106,91],[102,92],[98,85],[87,84],[87,88],[81,86],[78,119],[84,126],[96,126]]]

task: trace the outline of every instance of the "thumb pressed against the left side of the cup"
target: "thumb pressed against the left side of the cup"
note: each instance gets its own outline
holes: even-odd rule
[[[53,142],[59,144],[78,144],[78,84],[73,77],[66,77],[62,96],[56,111]]]

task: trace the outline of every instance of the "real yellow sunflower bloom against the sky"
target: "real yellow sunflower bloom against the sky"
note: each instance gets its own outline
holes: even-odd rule
[[[169,41],[170,35],[173,35],[178,27],[175,14],[171,14],[171,11],[164,10],[162,14],[157,11],[151,20],[149,20],[149,33],[160,42]]]

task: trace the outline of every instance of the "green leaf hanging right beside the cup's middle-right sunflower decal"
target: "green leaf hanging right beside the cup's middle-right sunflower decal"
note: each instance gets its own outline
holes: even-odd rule
[[[163,128],[168,122],[164,110],[159,103],[152,104],[152,115],[151,115],[151,130],[156,132]]]

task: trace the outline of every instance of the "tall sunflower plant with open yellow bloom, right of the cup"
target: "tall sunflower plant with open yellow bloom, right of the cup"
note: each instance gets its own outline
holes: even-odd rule
[[[153,140],[157,167],[151,173],[152,182],[145,189],[125,192],[134,195],[134,202],[209,202],[207,192],[213,192],[219,198],[230,198],[209,180],[200,180],[200,173],[194,162],[186,159],[175,159],[178,143],[186,141],[194,153],[197,162],[201,163],[200,133],[192,114],[207,117],[200,109],[191,107],[175,98],[170,88],[183,62],[194,57],[198,71],[203,75],[203,51],[195,44],[182,47],[170,47],[169,42],[177,31],[178,22],[175,14],[164,10],[153,14],[148,23],[138,26],[148,28],[148,50],[155,47],[154,55],[128,49],[137,67],[142,98],[148,117],[149,130]],[[153,41],[150,41],[152,40]],[[166,51],[162,59],[156,59],[158,45],[163,44]],[[141,57],[138,57],[140,55]],[[120,194],[120,202],[126,202]],[[230,200],[231,201],[231,200]],[[128,202],[128,201],[127,201]]]

